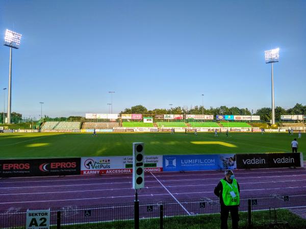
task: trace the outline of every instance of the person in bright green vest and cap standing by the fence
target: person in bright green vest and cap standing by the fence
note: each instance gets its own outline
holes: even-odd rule
[[[240,187],[231,169],[225,170],[225,178],[215,187],[214,193],[220,198],[221,229],[227,229],[228,213],[231,212],[233,229],[238,229],[238,207]]]

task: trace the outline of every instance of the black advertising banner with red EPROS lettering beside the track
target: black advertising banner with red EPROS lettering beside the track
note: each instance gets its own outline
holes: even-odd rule
[[[0,177],[80,175],[81,158],[0,160]]]

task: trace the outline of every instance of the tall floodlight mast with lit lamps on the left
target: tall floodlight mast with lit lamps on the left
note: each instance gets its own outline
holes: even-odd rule
[[[10,47],[10,71],[9,71],[9,91],[8,91],[8,123],[11,123],[12,108],[12,49],[20,46],[21,34],[6,30],[4,45]]]

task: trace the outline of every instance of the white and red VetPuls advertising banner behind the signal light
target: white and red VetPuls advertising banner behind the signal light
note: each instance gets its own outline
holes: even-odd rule
[[[131,174],[132,171],[132,156],[81,158],[81,175]],[[163,156],[145,156],[144,171],[163,171]]]

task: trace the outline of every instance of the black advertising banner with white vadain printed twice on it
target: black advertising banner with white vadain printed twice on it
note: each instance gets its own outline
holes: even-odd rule
[[[237,168],[303,167],[301,153],[237,154]]]

